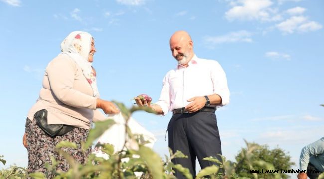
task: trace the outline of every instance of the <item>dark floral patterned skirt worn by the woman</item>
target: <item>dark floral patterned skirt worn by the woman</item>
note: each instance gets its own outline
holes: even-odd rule
[[[81,141],[86,141],[89,134],[88,129],[74,128],[72,131],[63,136],[56,136],[52,138],[48,136],[36,123],[36,120],[26,120],[26,139],[28,150],[28,174],[33,172],[42,172],[48,174],[47,178],[53,178],[54,174],[47,171],[45,163],[52,164],[50,156],[53,156],[58,162],[57,171],[68,171],[70,168],[67,160],[55,151],[55,146],[60,141],[69,141],[77,144],[78,149],[63,148],[63,150],[70,154],[74,160],[81,164],[87,161],[87,157],[91,154],[92,148],[85,152],[80,149]]]

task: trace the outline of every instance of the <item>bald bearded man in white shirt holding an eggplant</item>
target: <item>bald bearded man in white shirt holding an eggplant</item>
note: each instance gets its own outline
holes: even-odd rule
[[[159,115],[172,111],[167,127],[169,147],[188,156],[172,162],[188,168],[195,177],[196,158],[200,167],[205,168],[214,163],[203,158],[219,158],[217,154],[222,154],[215,111],[216,107],[229,103],[230,94],[220,64],[198,58],[187,32],[175,32],[170,38],[170,49],[178,64],[165,75],[159,101],[151,105],[137,97],[136,103],[151,107]],[[178,179],[185,178],[179,172],[175,175]]]

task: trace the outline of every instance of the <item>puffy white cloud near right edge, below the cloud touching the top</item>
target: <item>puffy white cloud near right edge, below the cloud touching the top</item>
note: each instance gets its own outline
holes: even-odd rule
[[[295,31],[299,32],[308,32],[316,31],[322,28],[322,25],[314,22],[308,21],[304,16],[292,16],[289,19],[276,24],[276,27],[284,33],[294,33]]]

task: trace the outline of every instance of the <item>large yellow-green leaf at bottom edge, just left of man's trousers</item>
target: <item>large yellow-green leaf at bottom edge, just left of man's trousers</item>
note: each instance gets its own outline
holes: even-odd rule
[[[147,165],[153,179],[163,179],[164,171],[159,154],[145,146],[140,146],[138,153]]]

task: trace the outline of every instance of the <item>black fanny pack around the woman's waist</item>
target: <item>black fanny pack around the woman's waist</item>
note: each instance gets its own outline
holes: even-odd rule
[[[65,124],[48,124],[47,123],[47,110],[42,109],[37,111],[34,115],[37,125],[51,137],[62,136],[75,127]]]

